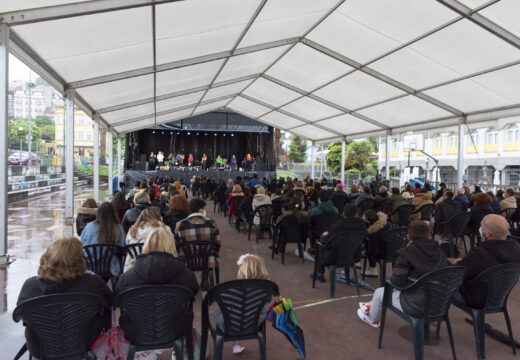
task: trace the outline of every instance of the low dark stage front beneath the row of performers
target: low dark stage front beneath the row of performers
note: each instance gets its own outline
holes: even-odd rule
[[[184,179],[186,183],[193,176],[204,176],[210,179],[216,179],[227,181],[228,179],[235,179],[237,176],[244,178],[245,176],[252,178],[254,174],[258,175],[259,179],[266,177],[271,180],[276,177],[276,171],[233,171],[233,170],[157,170],[157,171],[145,171],[145,170],[125,170],[127,186],[133,186],[137,180],[142,180],[147,176],[153,178],[169,176],[175,181]]]

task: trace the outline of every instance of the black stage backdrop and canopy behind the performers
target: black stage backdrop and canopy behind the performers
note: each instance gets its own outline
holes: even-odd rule
[[[230,116],[232,115],[232,116]],[[126,168],[144,170],[143,160],[151,152],[191,153],[195,161],[208,156],[208,166],[220,155],[231,162],[236,156],[240,165],[249,153],[257,158],[257,170],[274,170],[273,128],[253,119],[229,112],[211,112],[171,124],[130,133]],[[259,161],[260,160],[260,161]],[[136,164],[137,163],[137,164]]]

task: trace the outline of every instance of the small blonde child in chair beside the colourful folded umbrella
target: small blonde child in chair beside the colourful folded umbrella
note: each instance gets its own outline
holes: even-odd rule
[[[237,279],[261,279],[269,280],[269,273],[265,266],[264,260],[257,255],[244,254],[240,256],[237,261],[238,273]],[[269,310],[268,304],[264,305],[260,317],[258,318],[258,325],[260,326],[264,321]],[[225,330],[224,317],[222,310],[218,305],[215,306],[215,311],[210,319],[213,328],[219,328],[221,331]],[[233,341],[233,354],[240,354],[245,349],[244,345],[238,341]]]

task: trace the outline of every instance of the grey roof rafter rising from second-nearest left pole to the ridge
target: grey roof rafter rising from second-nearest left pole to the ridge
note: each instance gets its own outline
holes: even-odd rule
[[[246,46],[246,47],[243,47],[240,49],[236,49],[235,51],[222,51],[222,52],[218,52],[218,53],[214,53],[214,54],[172,61],[169,63],[157,65],[156,72],[181,69],[181,68],[184,68],[187,66],[203,64],[203,63],[207,63],[207,62],[211,62],[211,61],[215,61],[215,60],[228,59],[229,57],[232,57],[232,56],[249,54],[249,53],[256,52],[256,51],[268,50],[268,49],[284,46],[287,44],[295,44],[295,43],[299,42],[300,40],[301,40],[300,37],[292,37],[292,38],[271,41],[271,42],[258,44],[258,45]],[[78,89],[78,88],[87,87],[87,86],[104,84],[104,83],[112,82],[112,81],[119,81],[119,80],[129,79],[129,78],[138,77],[138,76],[150,75],[153,73],[154,73],[154,67],[146,66],[146,67],[143,67],[140,69],[123,71],[123,72],[116,73],[116,74],[109,74],[109,75],[97,76],[97,77],[90,78],[90,79],[73,81],[70,83],[70,86],[74,89]]]

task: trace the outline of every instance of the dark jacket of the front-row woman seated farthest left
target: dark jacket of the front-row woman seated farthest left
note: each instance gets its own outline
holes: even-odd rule
[[[103,279],[95,274],[85,273],[73,280],[62,282],[38,280],[37,276],[33,276],[27,279],[23,284],[20,295],[18,296],[17,305],[43,295],[71,293],[89,293],[99,295],[109,304],[112,302],[112,292]],[[101,316],[95,316],[92,319],[87,330],[87,344],[92,344],[99,337],[103,329],[110,328],[110,320],[109,311],[104,314],[104,318]],[[25,328],[25,339],[27,348],[33,357],[40,358],[38,337],[28,327]]]

